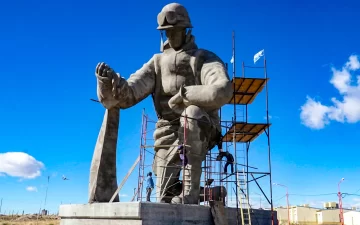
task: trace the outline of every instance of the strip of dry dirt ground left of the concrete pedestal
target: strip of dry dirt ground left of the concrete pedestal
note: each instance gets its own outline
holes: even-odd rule
[[[0,225],[59,225],[57,216],[0,216]]]

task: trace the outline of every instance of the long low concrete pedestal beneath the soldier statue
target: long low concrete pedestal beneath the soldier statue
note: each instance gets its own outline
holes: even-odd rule
[[[236,225],[236,208],[225,208],[229,225]],[[210,207],[166,203],[117,202],[61,205],[60,225],[212,225]],[[271,225],[269,210],[252,210],[253,225]],[[276,221],[276,212],[274,212]],[[276,224],[276,223],[274,223]]]

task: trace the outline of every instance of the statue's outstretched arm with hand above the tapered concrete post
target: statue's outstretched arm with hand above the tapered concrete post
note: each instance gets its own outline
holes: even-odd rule
[[[131,74],[126,80],[120,74],[112,78],[96,75],[98,80],[99,101],[110,109],[129,108],[149,96],[155,88],[155,56],[145,63],[141,69]]]

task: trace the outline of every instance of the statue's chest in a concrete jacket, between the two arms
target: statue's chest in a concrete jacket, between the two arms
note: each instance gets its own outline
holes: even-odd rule
[[[164,94],[175,95],[181,86],[195,85],[191,55],[186,52],[163,55],[161,59],[161,84]]]

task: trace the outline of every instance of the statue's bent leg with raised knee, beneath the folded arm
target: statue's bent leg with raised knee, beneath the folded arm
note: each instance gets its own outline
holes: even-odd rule
[[[185,116],[186,115],[186,121]],[[185,167],[183,193],[173,198],[173,203],[181,203],[184,195],[185,204],[198,204],[200,194],[201,164],[209,150],[209,143],[216,135],[216,126],[211,124],[209,115],[201,108],[191,105],[180,118],[179,139],[183,142],[184,127],[186,132],[186,155],[188,165]],[[180,136],[180,134],[182,134]]]

